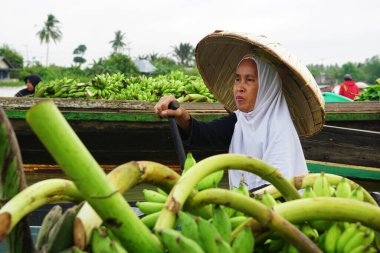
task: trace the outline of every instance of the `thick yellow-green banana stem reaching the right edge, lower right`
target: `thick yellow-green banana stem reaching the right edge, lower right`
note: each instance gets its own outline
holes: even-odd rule
[[[292,223],[308,220],[361,222],[380,232],[380,208],[370,203],[331,197],[297,199],[273,206],[274,212]]]

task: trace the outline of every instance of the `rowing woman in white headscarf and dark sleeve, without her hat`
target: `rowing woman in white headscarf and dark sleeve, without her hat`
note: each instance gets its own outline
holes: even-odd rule
[[[160,116],[174,116],[191,144],[229,143],[229,153],[261,159],[287,178],[305,175],[306,161],[275,67],[258,57],[244,57],[231,88],[237,110],[212,123],[196,121],[182,107],[168,110],[173,96],[163,97],[154,109]],[[251,190],[267,184],[252,173],[229,171],[230,186],[238,187],[241,179]]]

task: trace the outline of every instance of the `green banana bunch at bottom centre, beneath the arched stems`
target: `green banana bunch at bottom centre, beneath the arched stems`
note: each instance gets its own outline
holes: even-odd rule
[[[255,240],[250,227],[244,227],[235,238],[231,237],[228,215],[219,206],[214,207],[210,221],[180,211],[179,230],[160,229],[156,234],[169,253],[251,253]]]

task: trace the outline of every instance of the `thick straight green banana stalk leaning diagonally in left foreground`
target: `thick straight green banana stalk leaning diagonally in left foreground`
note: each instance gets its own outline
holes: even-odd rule
[[[27,112],[26,120],[57,164],[127,251],[163,252],[155,236],[107,179],[53,101],[41,101],[34,105]]]

